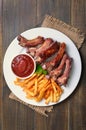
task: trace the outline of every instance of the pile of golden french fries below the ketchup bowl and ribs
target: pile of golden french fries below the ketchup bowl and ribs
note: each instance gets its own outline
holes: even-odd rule
[[[27,79],[16,78],[14,84],[23,88],[28,99],[34,99],[36,102],[45,99],[45,104],[58,102],[63,93],[62,88],[52,78],[47,79],[44,74],[34,73]]]

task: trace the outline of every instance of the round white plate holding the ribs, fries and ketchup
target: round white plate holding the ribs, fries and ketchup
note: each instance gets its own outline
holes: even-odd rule
[[[22,33],[22,36],[26,37],[27,39],[35,38],[38,35],[43,36],[45,38],[50,37],[59,42],[65,42],[67,45],[67,52],[68,52],[69,56],[73,58],[73,64],[72,64],[70,78],[68,80],[66,87],[62,86],[64,89],[64,93],[62,94],[61,99],[59,100],[59,102],[62,102],[75,90],[75,88],[79,82],[79,79],[81,76],[81,69],[82,69],[81,58],[80,58],[79,52],[78,52],[76,46],[74,45],[74,43],[66,35],[64,35],[63,33],[59,32],[57,30],[54,30],[54,29],[39,27],[39,28],[33,28],[30,30],[27,30]],[[35,102],[34,100],[29,100],[25,97],[25,93],[22,91],[22,89],[19,86],[16,86],[14,84],[13,81],[15,80],[16,77],[15,77],[15,75],[13,75],[13,73],[11,71],[11,61],[14,56],[16,56],[17,54],[20,54],[24,51],[25,51],[25,49],[23,47],[21,47],[20,45],[18,45],[18,41],[17,41],[17,37],[16,37],[11,42],[11,44],[9,45],[9,47],[5,53],[4,62],[3,62],[3,72],[4,72],[4,77],[5,77],[5,80],[6,80],[6,83],[9,87],[9,89],[19,99],[21,99],[22,101],[24,101],[28,104],[37,105],[37,106],[49,106],[49,105],[56,104],[56,103],[50,103],[50,104],[46,105],[44,100],[39,103]],[[57,102],[57,103],[59,103],[59,102]]]

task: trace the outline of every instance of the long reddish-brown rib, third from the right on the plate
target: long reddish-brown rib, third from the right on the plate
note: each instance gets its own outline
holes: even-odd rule
[[[57,52],[57,55],[53,59],[51,59],[50,61],[45,62],[45,64],[43,64],[43,66],[42,66],[43,69],[47,69],[48,72],[50,72],[53,69],[53,67],[55,67],[62,59],[63,54],[65,52],[65,49],[66,49],[66,44],[61,43],[60,48]]]

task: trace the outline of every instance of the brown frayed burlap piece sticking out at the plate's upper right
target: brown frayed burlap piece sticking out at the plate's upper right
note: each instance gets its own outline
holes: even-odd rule
[[[66,34],[75,43],[78,49],[81,47],[85,39],[85,33],[59,19],[54,18],[53,16],[46,15],[42,27],[57,29]]]

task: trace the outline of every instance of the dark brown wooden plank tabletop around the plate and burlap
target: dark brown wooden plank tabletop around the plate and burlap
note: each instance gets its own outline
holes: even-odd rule
[[[10,42],[40,25],[50,14],[86,33],[86,0],[0,0],[0,66]],[[86,130],[86,41],[79,50],[82,75],[74,93],[44,117],[8,98],[10,90],[0,69],[0,129]]]

